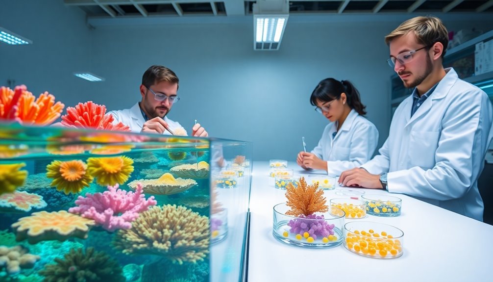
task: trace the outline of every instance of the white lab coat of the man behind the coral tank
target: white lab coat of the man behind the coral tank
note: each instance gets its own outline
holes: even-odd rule
[[[124,125],[130,127],[130,131],[140,133],[142,126],[144,125],[144,117],[141,113],[141,107],[139,103],[136,103],[131,108],[122,110],[112,110],[108,112],[114,117],[114,123],[121,122]],[[185,130],[178,122],[169,119],[167,116],[164,117],[164,121],[168,123],[171,131],[175,132],[176,129],[181,128]],[[185,130],[186,133],[186,130]],[[163,132],[164,135],[171,135],[167,130]]]

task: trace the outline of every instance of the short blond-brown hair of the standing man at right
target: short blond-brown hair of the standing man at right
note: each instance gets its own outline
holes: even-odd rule
[[[442,58],[445,56],[447,46],[449,45],[449,34],[447,28],[439,18],[426,16],[409,19],[385,36],[385,43],[389,45],[393,39],[410,32],[414,32],[418,42],[428,48],[436,42],[442,43]]]

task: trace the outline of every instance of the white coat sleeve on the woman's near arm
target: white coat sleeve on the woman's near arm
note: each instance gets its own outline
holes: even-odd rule
[[[379,136],[375,125],[359,124],[353,130],[349,160],[327,161],[328,175],[339,176],[344,171],[361,166],[373,156]]]

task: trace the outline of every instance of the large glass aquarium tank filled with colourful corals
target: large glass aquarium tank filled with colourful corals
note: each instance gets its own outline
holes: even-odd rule
[[[251,143],[0,123],[0,281],[241,281]],[[234,187],[216,185],[226,168]]]

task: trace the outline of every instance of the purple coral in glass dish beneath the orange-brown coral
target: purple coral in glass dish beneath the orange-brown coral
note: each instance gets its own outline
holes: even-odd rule
[[[315,240],[318,236],[327,237],[329,235],[334,235],[335,225],[328,224],[327,221],[324,220],[323,215],[300,215],[299,218],[289,220],[287,225],[291,227],[289,232],[301,235],[308,232],[310,237]]]

